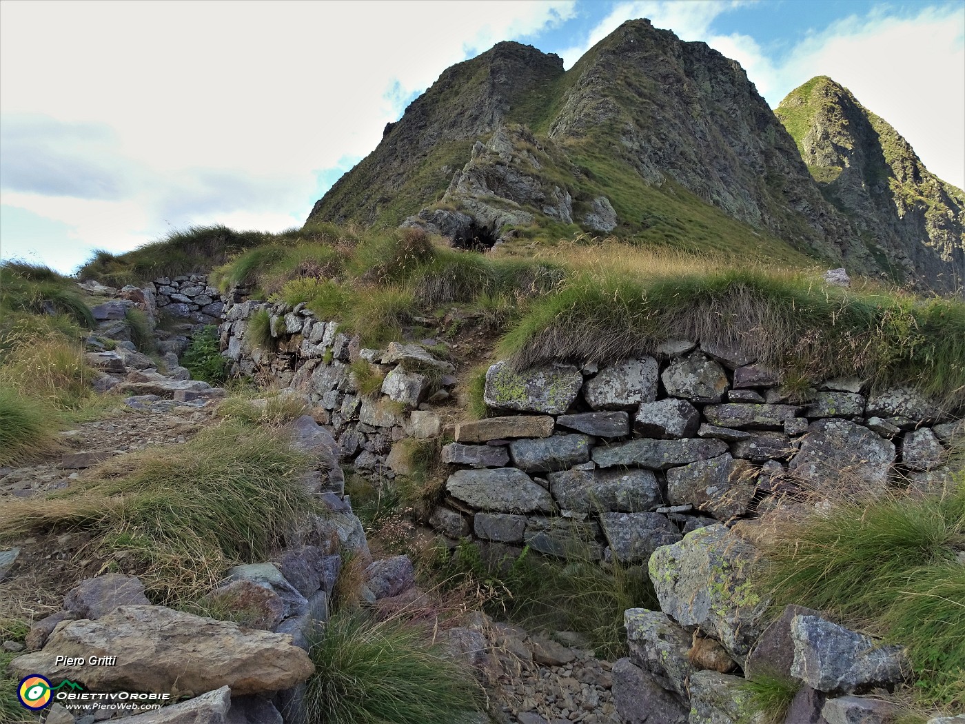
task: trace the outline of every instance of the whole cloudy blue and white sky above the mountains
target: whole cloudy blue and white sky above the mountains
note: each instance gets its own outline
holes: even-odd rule
[[[771,107],[830,75],[965,185],[963,0],[0,0],[0,256],[70,272],[196,224],[301,226],[449,66],[515,40],[568,69],[636,17]]]

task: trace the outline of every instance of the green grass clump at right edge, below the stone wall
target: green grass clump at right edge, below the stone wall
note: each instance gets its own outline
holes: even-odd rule
[[[959,473],[961,475],[961,473]],[[965,480],[943,493],[840,503],[788,526],[760,582],[907,647],[924,703],[961,707],[965,687]]]

